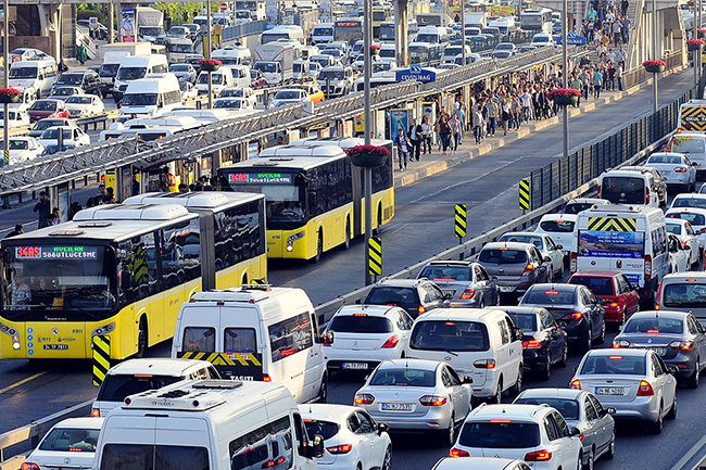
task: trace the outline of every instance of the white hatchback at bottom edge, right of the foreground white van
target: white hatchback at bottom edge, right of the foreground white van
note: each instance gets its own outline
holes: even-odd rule
[[[330,470],[390,470],[392,443],[387,424],[378,424],[365,410],[346,405],[300,405],[306,433],[324,437],[319,468]]]

